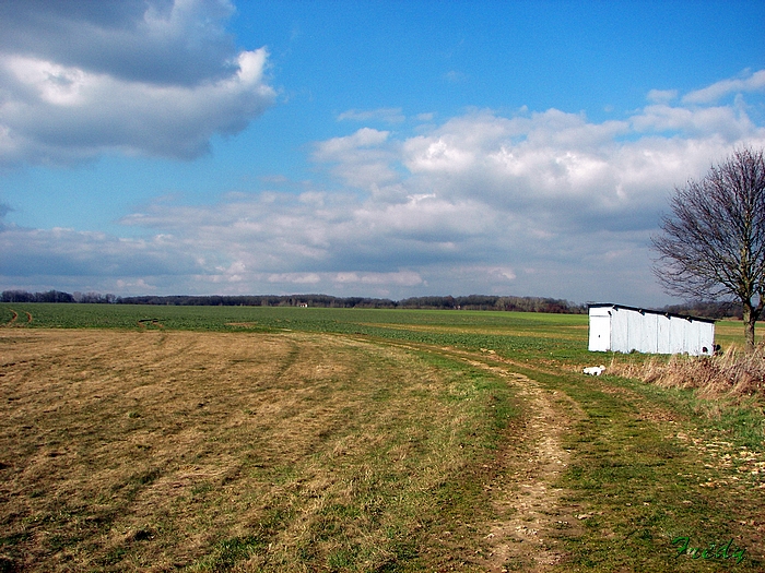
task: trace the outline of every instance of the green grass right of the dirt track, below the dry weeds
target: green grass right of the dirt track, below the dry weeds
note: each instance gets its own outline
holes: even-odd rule
[[[584,535],[567,540],[573,559],[561,571],[765,566],[757,526],[762,478],[727,464],[742,447],[754,444],[762,453],[762,433],[746,440],[731,419],[693,415],[691,392],[610,377],[536,377],[581,408],[565,444],[575,462],[562,485],[570,491],[567,501],[591,516],[584,522]],[[684,536],[701,549],[733,538],[749,553],[734,568],[731,560],[679,556],[672,540]]]

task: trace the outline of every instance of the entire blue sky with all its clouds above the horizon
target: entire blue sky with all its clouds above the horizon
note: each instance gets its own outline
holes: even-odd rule
[[[0,289],[662,306],[765,3],[0,4]]]

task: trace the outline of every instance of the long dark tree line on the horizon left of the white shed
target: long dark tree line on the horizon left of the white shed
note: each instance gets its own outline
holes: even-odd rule
[[[246,296],[141,296],[118,297],[98,293],[27,293],[4,290],[2,302],[86,302],[108,305],[162,305],[181,307],[322,307],[361,309],[433,309],[433,310],[505,310],[517,312],[552,312],[562,314],[584,314],[586,305],[575,305],[567,300],[540,297],[501,297],[469,295],[464,297],[412,297],[403,300],[366,297],[332,297],[329,295],[246,295]]]

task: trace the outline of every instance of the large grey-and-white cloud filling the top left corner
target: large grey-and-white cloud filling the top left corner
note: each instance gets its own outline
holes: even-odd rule
[[[105,151],[192,158],[273,102],[264,48],[236,52],[227,1],[0,4],[0,164]]]

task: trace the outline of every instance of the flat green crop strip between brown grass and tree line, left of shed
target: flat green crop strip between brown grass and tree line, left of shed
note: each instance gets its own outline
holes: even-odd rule
[[[16,325],[32,329],[315,332],[449,345],[497,353],[580,359],[588,353],[587,317],[493,311],[323,309],[293,307],[160,307],[0,303]],[[26,322],[24,312],[33,315]],[[582,347],[584,345],[584,347]]]

